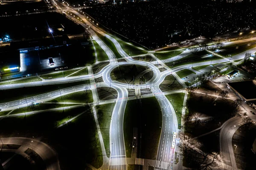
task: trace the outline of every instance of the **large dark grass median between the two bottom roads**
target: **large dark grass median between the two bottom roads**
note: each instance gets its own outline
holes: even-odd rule
[[[142,106],[136,100],[128,101],[124,116],[124,138],[127,157],[131,157],[133,129],[138,128],[142,158],[155,159],[161,134],[162,112],[156,98],[143,98]],[[139,138],[139,136],[137,136]]]

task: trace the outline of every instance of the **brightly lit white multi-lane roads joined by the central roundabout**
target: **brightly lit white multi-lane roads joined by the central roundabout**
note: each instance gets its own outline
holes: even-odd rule
[[[62,1],[61,1],[62,2]],[[54,3],[55,6],[58,6],[57,3]],[[66,4],[63,4],[67,8]],[[58,6],[58,9],[61,9]],[[154,66],[154,63],[150,62],[144,62],[144,61],[136,61],[129,57],[128,54],[124,52],[124,50],[121,48],[120,44],[110,35],[106,34],[105,32],[102,32],[100,29],[97,28],[97,26],[93,23],[91,23],[89,20],[87,20],[83,14],[80,12],[77,12],[75,9],[70,8],[70,12],[73,12],[78,17],[81,18],[83,22],[80,20],[76,20],[76,18],[72,17],[73,20],[76,20],[76,22],[80,23],[84,28],[87,28],[90,32],[91,36],[98,44],[100,44],[101,48],[106,52],[108,55],[110,63],[108,66],[105,66],[100,72],[96,73],[95,75],[89,74],[84,76],[77,76],[77,77],[68,77],[68,78],[59,78],[54,80],[47,80],[47,81],[39,81],[39,82],[31,82],[31,83],[23,83],[23,84],[11,84],[11,85],[2,85],[0,86],[1,89],[12,89],[12,88],[20,88],[20,87],[29,87],[29,86],[39,86],[39,85],[48,85],[48,84],[61,84],[61,83],[67,83],[67,82],[73,82],[73,81],[82,81],[82,80],[91,80],[94,78],[102,77],[104,81],[104,86],[109,86],[114,89],[116,89],[118,93],[118,99],[116,100],[115,107],[113,108],[112,118],[111,118],[111,124],[110,124],[110,150],[111,150],[111,156],[109,161],[109,169],[111,170],[126,170],[127,169],[127,159],[126,159],[126,151],[125,151],[125,141],[124,141],[124,135],[123,135],[123,121],[124,121],[124,113],[125,113],[125,107],[127,104],[128,99],[128,91],[127,89],[136,89],[141,88],[145,89],[150,87],[151,92],[154,94],[154,96],[157,98],[162,115],[163,115],[163,123],[162,123],[162,131],[160,135],[160,141],[158,144],[158,151],[157,151],[157,161],[155,164],[156,169],[158,170],[170,170],[172,168],[172,160],[174,158],[174,150],[171,149],[172,145],[172,133],[177,132],[177,117],[175,115],[175,110],[173,109],[171,103],[166,98],[166,96],[163,94],[163,92],[160,90],[159,85],[164,80],[164,78],[171,74],[172,72],[177,72],[181,69],[189,68],[191,67],[191,64],[177,66],[173,69],[170,69],[168,66],[166,66],[166,62],[176,61],[186,55],[189,55],[189,51],[185,51],[181,53],[180,55],[172,58],[167,59],[164,61],[160,61],[157,59],[157,61],[165,67],[167,70],[164,72],[160,72],[160,70]],[[86,23],[86,24],[84,24]],[[126,60],[126,62],[117,62],[115,54],[112,52],[112,50],[96,35],[95,32],[98,32],[99,34],[107,37],[111,42],[113,42],[114,46],[116,47],[119,54]],[[249,52],[255,52],[256,48],[250,49]],[[245,52],[244,52],[245,53]],[[231,61],[242,59],[244,57],[244,53],[241,53],[239,55],[234,56]],[[201,63],[194,63],[193,66],[202,66],[202,65],[209,65],[210,63],[221,63],[221,62],[227,62],[229,59],[223,58],[220,60],[215,61],[207,61],[207,62],[201,62]],[[146,84],[141,84],[140,86],[137,85],[128,85],[124,83],[120,83],[117,81],[112,81],[110,74],[111,71],[120,66],[120,65],[126,65],[126,64],[137,64],[141,66],[147,66],[151,71],[154,73],[153,78],[151,80],[147,81]],[[88,85],[79,85],[79,86],[73,86],[68,87],[65,89],[45,93],[42,95],[37,95],[34,97],[18,100],[18,101],[11,101],[7,103],[0,104],[0,108],[2,110],[11,110],[16,109],[17,107],[25,107],[27,103],[32,103],[34,101],[37,102],[43,102],[43,101],[49,101],[52,98],[59,97],[60,95],[69,94],[72,92],[78,92],[81,90],[84,90],[84,87],[88,86],[89,89],[95,89],[96,87],[99,87],[99,84],[96,84],[96,86],[93,86],[92,84]],[[92,90],[94,91],[94,90]],[[95,94],[93,94],[95,95]],[[140,98],[140,96],[137,96]],[[97,102],[97,101],[94,101]]]

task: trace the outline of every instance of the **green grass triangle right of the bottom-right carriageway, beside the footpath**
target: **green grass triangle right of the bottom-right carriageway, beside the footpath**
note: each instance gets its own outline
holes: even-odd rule
[[[181,114],[182,114],[184,96],[185,96],[185,93],[176,93],[172,95],[166,95],[166,97],[171,102],[172,107],[175,110],[179,129],[181,127]]]

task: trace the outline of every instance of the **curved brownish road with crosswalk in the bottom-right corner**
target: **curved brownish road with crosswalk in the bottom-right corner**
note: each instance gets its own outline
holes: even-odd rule
[[[248,117],[256,121],[256,115],[249,115]],[[232,146],[232,137],[241,125],[241,121],[242,118],[240,117],[228,120],[225,122],[226,124],[221,128],[220,132],[220,148],[221,154],[223,155],[224,164],[232,166],[233,170],[237,170],[237,167]]]

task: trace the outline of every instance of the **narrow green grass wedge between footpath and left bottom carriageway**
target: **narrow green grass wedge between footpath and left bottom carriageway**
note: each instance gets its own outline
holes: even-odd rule
[[[105,145],[105,150],[107,153],[107,156],[109,158],[110,156],[110,149],[109,149],[109,128],[110,128],[110,122],[111,122],[111,115],[115,104],[102,104],[99,105],[99,108],[97,110],[98,115],[98,121],[99,121],[99,127],[102,132],[102,138]]]

